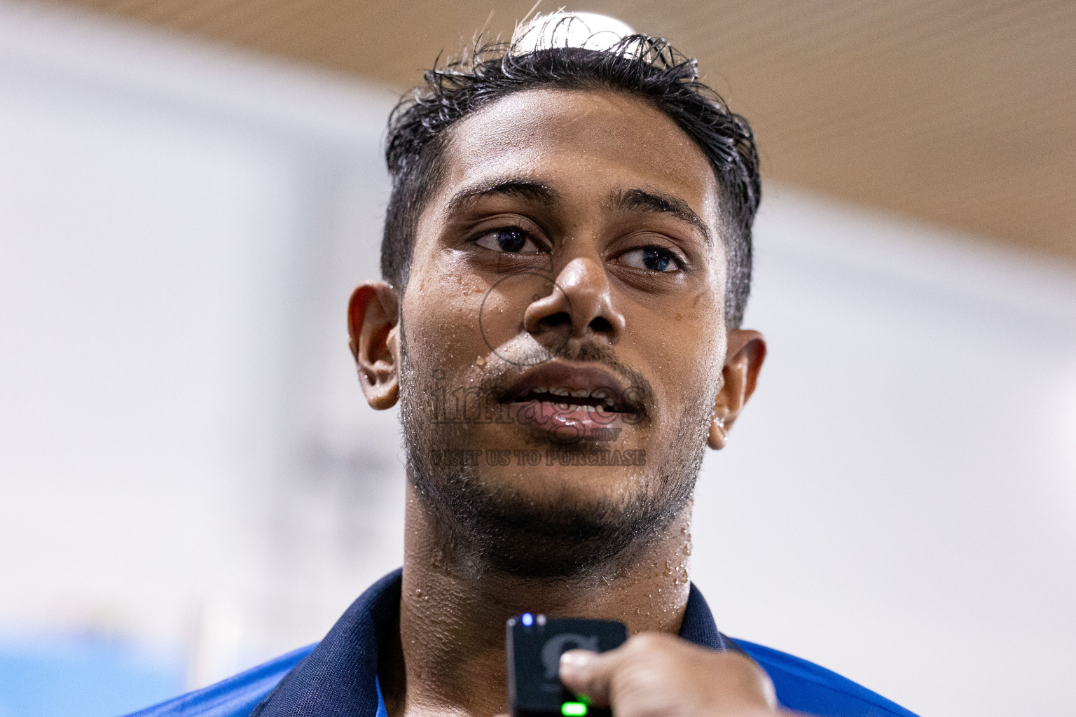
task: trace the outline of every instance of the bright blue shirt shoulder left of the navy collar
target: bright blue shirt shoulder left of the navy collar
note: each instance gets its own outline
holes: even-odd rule
[[[128,717],[249,717],[277,683],[313,649],[314,645],[300,647],[224,682],[181,694]]]

